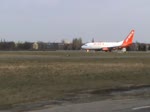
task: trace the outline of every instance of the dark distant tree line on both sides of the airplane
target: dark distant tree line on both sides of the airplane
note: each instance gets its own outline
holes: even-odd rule
[[[34,48],[35,42],[13,42],[13,41],[1,41],[0,50],[13,51],[13,50],[80,50],[83,45],[82,38],[74,38],[72,42],[66,43],[64,40],[60,43],[45,43],[37,42],[38,47]],[[127,51],[147,51],[150,50],[150,44],[145,43],[133,43],[127,47]]]

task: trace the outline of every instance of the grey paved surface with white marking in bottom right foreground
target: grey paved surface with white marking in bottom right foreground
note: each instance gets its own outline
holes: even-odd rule
[[[150,112],[150,99],[105,100],[28,112]]]

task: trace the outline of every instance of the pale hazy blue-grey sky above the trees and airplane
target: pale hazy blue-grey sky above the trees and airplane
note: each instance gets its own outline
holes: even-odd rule
[[[150,0],[0,0],[7,41],[120,41],[131,29],[150,43]]]

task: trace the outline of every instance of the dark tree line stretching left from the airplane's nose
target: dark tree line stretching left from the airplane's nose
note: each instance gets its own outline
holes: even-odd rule
[[[37,48],[34,47],[35,43]],[[71,43],[62,41],[56,42],[13,42],[2,41],[0,42],[0,50],[12,51],[12,50],[80,50],[82,46],[81,38],[74,38]]]

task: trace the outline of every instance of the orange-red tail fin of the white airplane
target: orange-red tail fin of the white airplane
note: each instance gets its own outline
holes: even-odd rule
[[[127,47],[131,45],[133,41],[133,37],[134,37],[134,30],[132,30],[127,36],[127,38],[123,41],[122,47]]]

